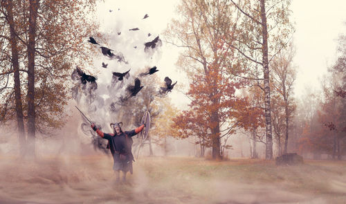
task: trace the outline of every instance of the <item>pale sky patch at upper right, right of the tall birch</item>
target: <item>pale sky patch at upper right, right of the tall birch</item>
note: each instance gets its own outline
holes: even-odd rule
[[[294,64],[298,66],[295,95],[304,87],[319,89],[322,75],[336,60],[336,39],[346,34],[345,0],[293,0]]]

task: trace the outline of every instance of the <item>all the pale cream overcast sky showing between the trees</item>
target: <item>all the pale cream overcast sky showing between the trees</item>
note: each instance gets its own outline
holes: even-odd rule
[[[123,39],[131,37],[131,42],[136,43],[136,39],[138,42],[143,41],[140,35],[152,33],[156,36],[162,33],[174,17],[177,3],[179,0],[106,0],[104,3],[99,3],[98,16],[102,29],[107,30],[111,24],[121,24],[115,27],[124,30]],[[113,11],[109,12],[109,9]],[[335,61],[336,39],[340,33],[346,33],[346,1],[293,0],[291,10],[293,10],[292,18],[296,28],[293,39],[297,50],[294,64],[298,67],[295,95],[300,97],[305,87],[319,89],[320,77],[327,73],[327,67]],[[143,19],[145,14],[149,15],[147,19]],[[114,28],[114,26],[111,27]],[[141,29],[141,33],[134,35],[134,33],[125,32],[129,28],[136,27]],[[127,33],[126,37],[125,33]],[[172,46],[165,44],[160,52],[158,57],[146,62],[147,65],[158,66],[160,70],[158,75],[161,77],[166,75],[179,77],[182,73],[179,73],[174,66],[178,53],[174,52]],[[183,83],[181,78],[177,80],[178,84]],[[178,105],[188,102],[188,100],[177,100],[183,97],[177,91],[173,91],[171,95],[174,101],[179,101]]]

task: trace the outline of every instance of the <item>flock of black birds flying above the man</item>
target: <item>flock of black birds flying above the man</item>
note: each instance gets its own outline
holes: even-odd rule
[[[111,10],[109,10],[109,12],[112,12]],[[149,17],[147,14],[143,17],[143,19],[146,19],[147,17]],[[131,28],[129,30],[139,30],[139,28]],[[118,35],[120,35],[121,32],[118,32]],[[148,34],[148,37],[151,34]],[[93,38],[93,37],[89,37],[89,43],[91,44],[95,44],[100,46],[100,44]],[[154,49],[157,46],[161,46],[162,42],[161,39],[159,39],[159,37],[157,36],[154,40],[152,41],[148,41],[144,44],[145,48],[144,51],[146,52],[148,49]],[[125,57],[122,55],[122,53],[115,53],[114,50],[112,50],[111,48],[107,48],[105,46],[100,46],[101,48],[101,53],[102,55],[109,57],[109,59],[118,59],[118,62],[124,62],[125,64],[128,64],[128,62],[125,60]],[[134,48],[136,48],[136,46],[134,46]],[[107,68],[108,64],[104,64],[104,62],[102,62],[102,67],[103,68]],[[131,71],[131,68],[124,72],[124,73],[119,73],[119,72],[113,72],[113,80],[118,80],[118,81],[122,81],[124,79],[124,77],[129,77],[129,71]],[[152,68],[149,68],[147,70],[147,72],[145,73],[140,73],[140,77],[143,77],[145,75],[152,75],[154,73],[156,73],[158,71],[157,67],[154,66]],[[76,75],[77,74],[77,75]],[[76,68],[75,71],[73,72],[73,78],[75,78],[75,76],[79,76],[80,77],[80,82],[82,84],[86,84],[86,83],[91,83],[93,84],[93,87],[96,87],[97,89],[97,83],[96,80],[97,78],[92,76],[92,75],[86,75],[86,73],[84,73],[80,68]],[[122,81],[123,82],[123,81]],[[174,88],[174,85],[176,84],[176,82],[174,84],[172,84],[172,80],[169,77],[165,77],[164,79],[165,82],[165,86],[164,87],[160,87],[158,93],[160,95],[165,95],[168,92],[172,91],[172,89]],[[128,84],[126,87],[126,91],[127,91],[127,95],[125,97],[120,97],[120,102],[124,102],[126,100],[128,100],[131,97],[136,96],[141,89],[143,89],[144,86],[141,86],[140,84],[140,80],[138,77],[135,77],[134,79],[134,84]]]

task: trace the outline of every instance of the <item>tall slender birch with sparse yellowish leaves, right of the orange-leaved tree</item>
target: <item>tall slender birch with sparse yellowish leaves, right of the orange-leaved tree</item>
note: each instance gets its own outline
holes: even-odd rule
[[[264,91],[266,120],[266,159],[272,158],[271,89],[269,64],[276,53],[286,46],[293,27],[289,22],[289,0],[233,1],[236,20],[229,17],[232,26],[224,30],[226,43],[237,50],[239,62],[233,66],[246,69],[246,77]],[[233,30],[231,35],[230,29]],[[262,74],[259,68],[262,68]],[[237,70],[233,68],[233,70]],[[263,85],[260,81],[263,80]]]

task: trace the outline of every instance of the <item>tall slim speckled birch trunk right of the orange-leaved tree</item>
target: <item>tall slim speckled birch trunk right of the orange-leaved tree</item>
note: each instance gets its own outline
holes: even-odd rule
[[[263,71],[264,71],[264,116],[266,118],[266,159],[273,158],[273,138],[271,131],[271,88],[269,86],[269,66],[268,66],[268,31],[266,24],[265,1],[261,2],[261,19],[262,19],[262,53],[263,53]]]

